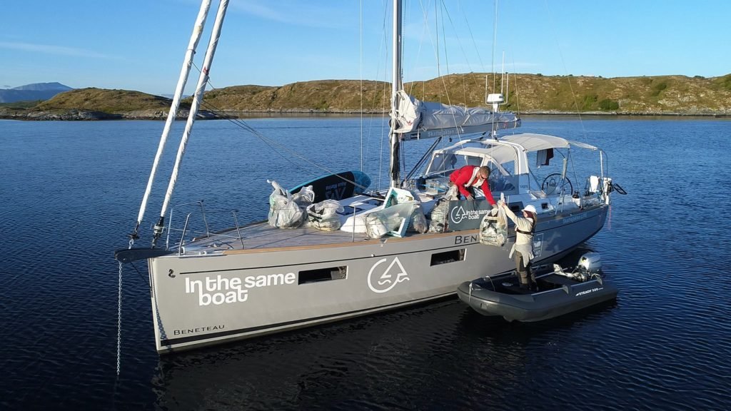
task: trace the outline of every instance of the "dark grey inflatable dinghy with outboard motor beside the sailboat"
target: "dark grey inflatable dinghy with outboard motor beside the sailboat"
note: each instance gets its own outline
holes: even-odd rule
[[[583,254],[572,271],[554,264],[553,271],[536,276],[537,291],[523,290],[515,274],[483,277],[463,282],[460,300],[485,316],[507,321],[534,322],[575,312],[617,297],[618,290],[605,282],[598,253]]]

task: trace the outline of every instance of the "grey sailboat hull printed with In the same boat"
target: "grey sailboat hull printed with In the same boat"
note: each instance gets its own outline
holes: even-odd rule
[[[544,214],[534,237],[535,261],[555,260],[575,249],[602,228],[607,210],[601,205]],[[308,229],[287,233],[298,230]],[[480,244],[477,230],[347,242],[341,235],[333,238],[338,243],[148,259],[157,350],[190,349],[423,303],[455,294],[462,282],[514,269],[507,257],[514,234],[502,248]]]

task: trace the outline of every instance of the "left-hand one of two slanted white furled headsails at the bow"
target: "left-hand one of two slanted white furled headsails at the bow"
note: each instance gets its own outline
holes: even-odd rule
[[[188,75],[193,64],[193,56],[195,49],[198,47],[203,27],[205,26],[205,20],[208,18],[208,10],[211,9],[211,0],[202,0],[200,3],[200,10],[198,11],[198,17],[195,20],[193,26],[193,33],[190,36],[190,42],[188,43],[188,49],[186,50],[185,59],[183,59],[183,67],[181,68],[181,75],[178,78],[178,85],[175,86],[175,94],[173,94],[173,102],[170,104],[170,111],[167,112],[167,119],[165,120],[165,127],[162,129],[162,135],[160,135],[160,143],[157,147],[157,154],[155,154],[154,162],[152,163],[152,170],[150,171],[150,178],[147,181],[147,189],[145,189],[145,195],[142,198],[140,204],[140,212],[137,214],[137,225],[135,230],[129,234],[129,240],[134,243],[137,238],[137,230],[140,228],[143,216],[145,215],[145,208],[147,208],[147,202],[152,192],[152,184],[155,181],[155,173],[157,167],[160,164],[160,158],[162,157],[162,151],[167,141],[167,136],[170,135],[170,128],[173,126],[175,121],[175,115],[178,113],[178,107],[181,103],[181,96],[183,95],[183,89],[186,83],[188,83]]]

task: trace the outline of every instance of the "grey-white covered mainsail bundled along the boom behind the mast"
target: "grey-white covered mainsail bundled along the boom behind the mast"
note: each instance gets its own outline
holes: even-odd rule
[[[515,113],[495,113],[485,108],[463,108],[438,102],[423,102],[398,91],[394,132],[401,140],[445,135],[490,132],[493,129],[520,127]]]

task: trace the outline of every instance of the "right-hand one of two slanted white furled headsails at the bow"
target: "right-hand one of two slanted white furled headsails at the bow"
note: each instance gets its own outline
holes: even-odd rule
[[[203,68],[200,71],[198,77],[198,84],[195,88],[195,94],[193,97],[193,104],[188,114],[188,121],[185,125],[185,131],[183,131],[183,137],[181,139],[180,146],[178,146],[178,155],[175,157],[175,165],[173,166],[173,173],[170,176],[170,183],[167,185],[167,192],[165,192],[165,199],[162,203],[162,209],[160,210],[160,219],[154,227],[154,238],[152,240],[152,246],[155,246],[157,239],[162,234],[164,227],[165,213],[167,212],[167,206],[170,204],[170,198],[173,197],[173,189],[175,189],[175,182],[178,181],[178,172],[180,170],[181,162],[183,162],[183,154],[188,144],[191,131],[193,129],[193,123],[195,117],[198,114],[200,108],[200,102],[203,99],[203,92],[205,91],[205,85],[208,83],[208,73],[211,70],[211,63],[213,62],[213,55],[216,53],[216,46],[219,44],[219,37],[221,37],[221,27],[223,26],[224,17],[226,15],[226,8],[228,7],[229,0],[221,0],[219,3],[219,10],[216,12],[216,21],[213,23],[213,31],[211,31],[211,40],[208,42],[208,50],[205,51],[205,58],[203,59]]]

